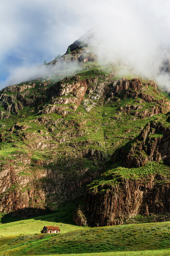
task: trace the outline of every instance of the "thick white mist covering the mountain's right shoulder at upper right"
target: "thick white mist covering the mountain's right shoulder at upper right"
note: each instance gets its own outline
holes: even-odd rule
[[[94,53],[105,62],[119,60],[169,91],[170,23],[165,8],[169,4],[120,1],[106,21],[92,28]]]

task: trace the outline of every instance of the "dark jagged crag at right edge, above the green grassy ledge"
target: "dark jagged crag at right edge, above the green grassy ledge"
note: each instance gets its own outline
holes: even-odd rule
[[[140,135],[129,145],[129,150],[119,149],[113,159],[123,156],[124,165],[128,168],[140,167],[148,161],[164,160],[170,162],[170,128],[163,122],[152,121],[141,131]]]

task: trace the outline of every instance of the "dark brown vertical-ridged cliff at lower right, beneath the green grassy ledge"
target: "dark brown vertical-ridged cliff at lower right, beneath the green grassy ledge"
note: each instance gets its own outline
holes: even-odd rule
[[[138,214],[169,213],[170,185],[157,185],[158,178],[164,179],[154,175],[139,180],[120,177],[117,185],[100,186],[96,191],[89,189],[84,206],[78,206],[74,213],[75,223],[110,226],[126,223]]]

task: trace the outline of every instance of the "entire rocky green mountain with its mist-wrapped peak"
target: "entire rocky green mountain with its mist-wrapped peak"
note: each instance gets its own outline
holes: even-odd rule
[[[77,200],[81,226],[167,220],[170,97],[98,62],[88,36],[48,75],[0,91],[0,211],[30,217]]]

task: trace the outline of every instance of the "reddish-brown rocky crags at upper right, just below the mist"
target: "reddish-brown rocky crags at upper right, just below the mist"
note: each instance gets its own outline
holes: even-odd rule
[[[120,99],[136,99],[134,102],[136,104],[124,105],[119,107],[118,111],[128,112],[135,118],[144,119],[160,113],[167,113],[170,110],[169,100],[160,95],[161,91],[153,81],[145,81],[138,77],[122,78],[111,83],[107,103]],[[149,107],[147,107],[147,103],[150,104]]]

